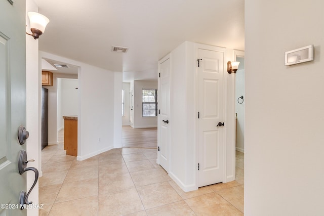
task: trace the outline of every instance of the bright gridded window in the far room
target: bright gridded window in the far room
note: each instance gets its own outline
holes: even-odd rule
[[[157,90],[142,90],[142,116],[157,116]]]

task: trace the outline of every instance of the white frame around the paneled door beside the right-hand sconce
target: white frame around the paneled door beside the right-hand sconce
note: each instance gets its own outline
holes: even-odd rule
[[[216,52],[221,52],[223,53],[223,115],[224,119],[223,121],[226,123],[228,122],[228,110],[227,110],[227,72],[226,72],[226,48],[221,48],[221,47],[216,47],[216,46],[211,46],[211,45],[203,45],[203,44],[195,44],[194,50],[195,50],[195,59],[196,61],[198,59],[198,49],[205,49],[205,50],[211,50],[211,51],[216,51]],[[226,72],[226,73],[225,73]],[[230,74],[229,74],[230,75]],[[197,67],[195,68],[195,101],[198,101],[198,70]],[[198,113],[198,103],[195,103],[195,113]],[[234,109],[235,112],[235,109]],[[196,164],[198,164],[198,119],[195,117],[195,151],[196,151]],[[227,150],[228,150],[228,145],[227,143],[227,126],[224,126],[222,129],[223,131],[223,164],[224,164],[224,169],[223,169],[223,183],[228,182],[228,178],[226,177],[227,175]],[[235,145],[235,143],[234,143]],[[235,158],[234,158],[235,160]],[[234,169],[235,169],[235,163],[234,163]],[[196,188],[198,189],[198,169],[196,168]]]

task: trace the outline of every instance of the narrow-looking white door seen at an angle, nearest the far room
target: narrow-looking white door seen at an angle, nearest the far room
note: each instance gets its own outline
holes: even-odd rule
[[[158,89],[158,161],[169,172],[170,167],[170,58],[159,62]]]

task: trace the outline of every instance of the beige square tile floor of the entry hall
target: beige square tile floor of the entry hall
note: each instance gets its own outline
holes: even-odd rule
[[[243,215],[244,154],[237,181],[184,192],[155,163],[156,149],[113,149],[77,161],[63,144],[42,151],[39,215]]]

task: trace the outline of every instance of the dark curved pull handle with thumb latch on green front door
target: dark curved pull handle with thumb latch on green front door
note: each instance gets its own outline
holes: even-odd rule
[[[19,174],[22,175],[25,171],[31,170],[31,171],[35,172],[35,180],[31,186],[30,190],[28,191],[28,193],[26,193],[25,191],[20,192],[20,196],[19,196],[20,209],[23,209],[24,204],[32,203],[31,201],[30,202],[28,201],[28,196],[38,181],[38,170],[35,167],[27,167],[27,163],[29,161],[35,161],[35,160],[27,160],[27,152],[24,150],[21,150],[19,159],[18,159]]]

